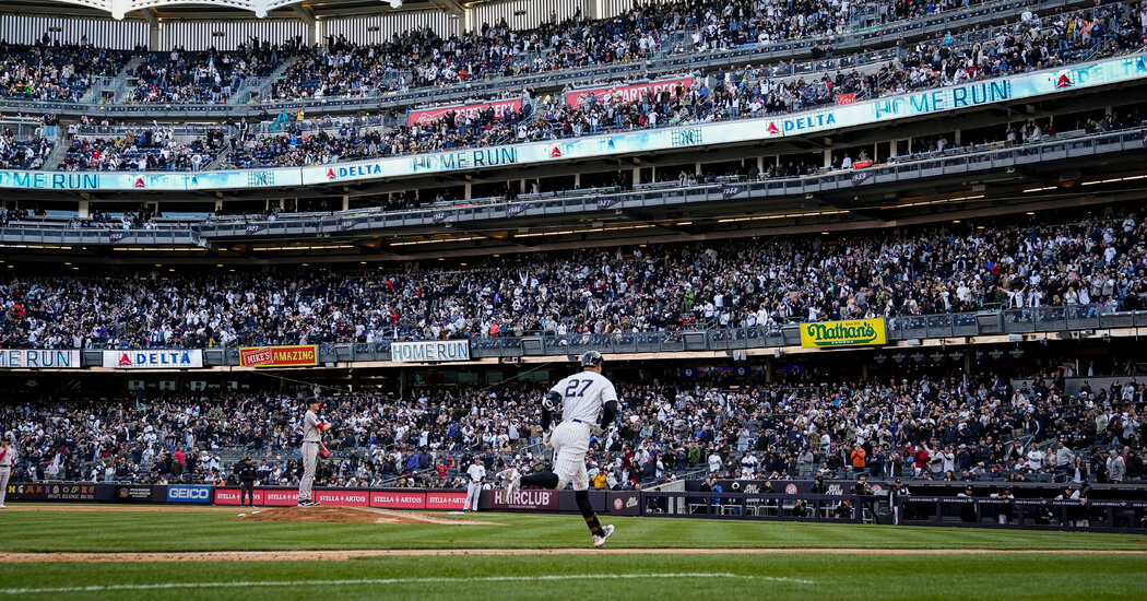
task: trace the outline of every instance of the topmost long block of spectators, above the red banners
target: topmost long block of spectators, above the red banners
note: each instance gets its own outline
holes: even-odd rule
[[[280,99],[362,96],[414,87],[513,77],[621,61],[660,53],[703,52],[746,44],[838,33],[850,25],[853,2],[662,2],[635,6],[616,17],[551,18],[533,29],[505,19],[461,37],[427,29],[376,45],[329,38],[305,52],[275,86]],[[935,9],[947,2],[929,5]],[[904,15],[911,16],[911,15]],[[890,10],[885,18],[899,15]],[[672,40],[672,47],[664,45]]]

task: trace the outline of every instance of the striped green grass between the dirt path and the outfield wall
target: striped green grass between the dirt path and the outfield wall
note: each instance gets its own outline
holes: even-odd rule
[[[590,543],[576,515],[470,514],[504,525],[237,522],[233,512],[0,513],[0,551],[173,552],[414,548],[562,548]],[[460,516],[459,516],[460,517]],[[461,517],[460,517],[461,518]],[[989,530],[671,517],[608,517],[610,547],[975,548],[1147,551],[1147,532]]]

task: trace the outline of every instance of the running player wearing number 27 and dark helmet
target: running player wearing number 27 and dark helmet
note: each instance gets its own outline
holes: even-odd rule
[[[582,356],[584,372],[563,378],[549,389],[541,401],[541,428],[549,430],[551,412],[562,406],[562,421],[548,435],[554,447],[554,471],[539,471],[521,476],[517,470],[506,478],[506,498],[509,499],[520,486],[562,490],[574,483],[577,507],[585,517],[593,546],[600,547],[614,534],[614,525],[601,525],[590,505],[590,477],[585,469],[585,454],[590,450],[590,436],[601,434],[617,415],[617,390],[614,383],[601,375],[603,359],[598,351]],[[598,412],[601,421],[598,421]]]

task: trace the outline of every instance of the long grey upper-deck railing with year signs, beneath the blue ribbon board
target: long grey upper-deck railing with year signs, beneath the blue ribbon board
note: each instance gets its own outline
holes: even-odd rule
[[[1038,143],[1001,148],[991,145],[927,153],[865,170],[842,170],[803,178],[766,179],[760,181],[731,181],[701,186],[646,188],[629,193],[588,190],[571,195],[523,196],[516,202],[483,198],[462,201],[452,205],[434,205],[412,211],[352,211],[346,213],[299,213],[279,216],[267,221],[255,219],[194,223],[189,229],[178,229],[179,224],[161,224],[157,229],[99,229],[76,228],[58,220],[26,220],[0,227],[0,241],[25,244],[188,244],[205,245],[213,241],[235,237],[314,236],[322,234],[354,235],[379,229],[424,227],[440,223],[505,220],[561,214],[599,212],[602,203],[612,209],[656,208],[678,204],[727,202],[729,198],[780,198],[824,194],[853,188],[856,173],[869,173],[864,186],[914,181],[951,174],[998,171],[1032,163],[1047,163],[1070,158],[1123,153],[1144,147],[1147,128],[1131,128],[1105,134],[1066,134]],[[931,158],[934,157],[934,158]],[[726,194],[733,192],[731,196]],[[465,204],[463,204],[465,203]],[[186,220],[182,220],[186,223]]]

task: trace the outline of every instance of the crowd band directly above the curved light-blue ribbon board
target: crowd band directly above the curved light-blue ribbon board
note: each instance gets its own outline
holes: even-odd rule
[[[280,133],[244,127],[232,133],[228,166],[298,166],[411,155],[466,147],[553,140],[601,132],[782,115],[856,100],[1050,69],[1079,60],[1144,48],[1142,13],[1123,3],[1101,5],[1045,17],[1024,14],[1000,28],[976,28],[904,48],[879,70],[838,71],[820,77],[777,77],[778,65],[719,68],[693,77],[689,86],[662,89],[625,102],[607,95],[577,107],[564,94],[537,97],[522,92],[521,111],[447,112],[429,125],[330,126],[298,116],[276,119]],[[337,46],[337,42],[336,42]],[[352,63],[357,64],[357,63]],[[283,117],[281,116],[281,117]],[[304,125],[306,125],[304,127]]]

